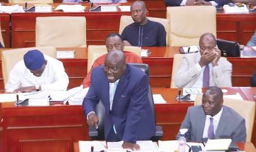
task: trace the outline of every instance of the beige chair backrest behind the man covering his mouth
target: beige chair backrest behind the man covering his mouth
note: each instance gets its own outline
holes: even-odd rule
[[[174,54],[173,57],[173,70],[171,72],[171,86],[170,88],[177,88],[174,80],[175,76],[177,74],[177,70],[179,69],[179,66],[183,60],[184,54]]]

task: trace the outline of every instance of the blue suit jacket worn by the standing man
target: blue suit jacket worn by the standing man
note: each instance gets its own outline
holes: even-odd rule
[[[119,79],[109,110],[109,81],[101,66],[92,70],[91,86],[83,100],[85,114],[94,111],[101,100],[106,108],[105,139],[110,129],[115,128],[123,141],[135,143],[148,140],[156,132],[155,118],[148,98],[149,77],[137,67],[127,64],[124,75]]]

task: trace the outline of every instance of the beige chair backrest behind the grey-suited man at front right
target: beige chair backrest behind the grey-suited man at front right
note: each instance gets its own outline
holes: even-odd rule
[[[194,105],[201,105],[203,95],[195,97]],[[233,108],[237,113],[245,119],[246,127],[246,142],[251,142],[252,129],[254,126],[255,116],[255,102],[246,100],[234,100],[231,98],[224,98],[223,105]]]

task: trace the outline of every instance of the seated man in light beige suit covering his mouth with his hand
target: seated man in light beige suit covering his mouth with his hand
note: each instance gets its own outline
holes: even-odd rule
[[[232,64],[221,57],[212,33],[204,33],[199,41],[200,52],[185,54],[177,70],[178,88],[231,87]]]

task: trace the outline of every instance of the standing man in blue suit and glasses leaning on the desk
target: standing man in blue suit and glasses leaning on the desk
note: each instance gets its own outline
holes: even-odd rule
[[[139,150],[139,140],[149,140],[156,132],[153,111],[147,97],[149,77],[125,62],[124,52],[109,52],[102,66],[95,67],[91,87],[83,100],[89,126],[98,128],[96,104],[106,108],[106,141],[124,141],[123,148]]]

